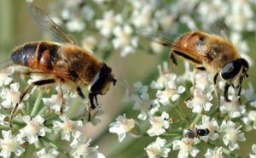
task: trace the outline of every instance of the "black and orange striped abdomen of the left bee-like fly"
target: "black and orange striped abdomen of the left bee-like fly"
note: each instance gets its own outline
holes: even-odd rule
[[[55,55],[61,45],[56,42],[29,42],[15,48],[11,60],[15,65],[22,65],[40,71],[51,71]]]

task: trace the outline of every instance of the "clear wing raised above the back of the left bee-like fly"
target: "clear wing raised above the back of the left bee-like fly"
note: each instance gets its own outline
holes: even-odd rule
[[[39,27],[47,32],[50,36],[55,37],[62,42],[70,42],[75,44],[71,37],[68,37],[67,34],[61,30],[61,28],[55,24],[53,20],[49,18],[41,9],[33,6],[32,4],[27,4],[27,9],[32,15],[33,20],[37,22]]]

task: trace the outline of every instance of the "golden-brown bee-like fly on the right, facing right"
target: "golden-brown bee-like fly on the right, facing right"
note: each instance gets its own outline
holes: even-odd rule
[[[240,96],[241,83],[248,76],[249,65],[246,59],[241,58],[236,47],[224,37],[203,31],[189,31],[176,38],[172,38],[173,36],[166,32],[137,31],[137,33],[162,46],[172,48],[169,58],[172,59],[174,65],[177,65],[177,59],[175,58],[175,55],[177,55],[195,65],[194,72],[207,71],[212,74],[214,93],[218,99],[218,110],[220,105],[218,95],[219,78],[225,81],[225,101],[230,102],[228,98],[230,86],[238,88],[238,96]],[[193,87],[195,90],[195,73]],[[241,102],[240,97],[239,101]]]

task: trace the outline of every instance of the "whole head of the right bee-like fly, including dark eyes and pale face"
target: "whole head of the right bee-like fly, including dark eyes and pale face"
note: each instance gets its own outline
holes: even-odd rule
[[[225,81],[230,82],[233,87],[238,88],[241,86],[242,79],[248,76],[248,69],[247,60],[235,59],[224,66],[220,75]]]

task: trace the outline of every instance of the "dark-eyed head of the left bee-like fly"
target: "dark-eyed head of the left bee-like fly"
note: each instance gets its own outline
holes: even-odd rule
[[[96,96],[98,94],[104,95],[105,93],[107,93],[111,82],[113,82],[114,86],[117,81],[113,78],[111,68],[103,63],[102,69],[96,74],[90,85],[89,99],[92,109],[96,108],[94,104],[94,99],[96,99],[96,104],[98,104]]]

